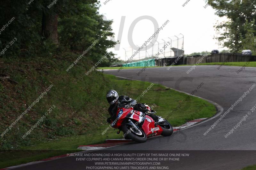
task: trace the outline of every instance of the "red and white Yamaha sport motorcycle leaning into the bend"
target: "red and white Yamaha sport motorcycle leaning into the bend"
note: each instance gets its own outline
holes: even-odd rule
[[[148,106],[147,106],[148,107]],[[124,132],[125,139],[131,139],[135,142],[146,142],[148,137],[154,136],[171,136],[173,133],[172,125],[161,116],[158,122],[149,116],[149,112],[155,114],[150,107],[148,111],[143,113],[131,108],[118,108],[116,113],[116,121],[112,122],[113,128],[119,129]]]

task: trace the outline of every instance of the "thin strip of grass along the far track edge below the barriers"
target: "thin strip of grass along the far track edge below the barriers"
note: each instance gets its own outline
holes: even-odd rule
[[[222,63],[201,63],[198,65],[220,65]],[[246,64],[246,62],[228,62],[228,63],[224,63],[223,65],[226,66],[246,66],[246,67],[256,67],[256,62],[251,62]],[[189,66],[189,65],[174,65],[174,66]],[[168,66],[167,66],[168,67]],[[99,69],[103,69],[103,70],[113,70],[113,69],[119,69],[120,67],[101,67]],[[123,69],[142,69],[143,67],[123,67]],[[147,67],[150,68],[150,67]]]

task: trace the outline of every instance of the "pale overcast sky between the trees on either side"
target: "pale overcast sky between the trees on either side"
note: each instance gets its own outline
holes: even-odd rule
[[[193,52],[211,51],[212,49],[221,48],[214,38],[216,31],[214,25],[217,21],[224,20],[214,13],[211,6],[204,8],[204,0],[190,0],[184,7],[182,4],[186,0],[110,0],[107,4],[103,4],[106,0],[101,1],[100,14],[106,16],[108,20],[113,20],[112,28],[115,33],[115,40],[119,33],[121,17],[125,16],[124,30],[120,49],[110,49],[116,55],[124,60],[124,49],[129,49],[128,30],[132,22],[144,15],[155,18],[159,26],[162,26],[166,20],[170,22],[160,31],[157,38],[167,39],[174,35],[182,33],[184,35],[184,51],[185,54]],[[154,24],[148,19],[143,19],[136,24],[133,30],[132,39],[134,44],[142,45],[142,43],[154,33]]]

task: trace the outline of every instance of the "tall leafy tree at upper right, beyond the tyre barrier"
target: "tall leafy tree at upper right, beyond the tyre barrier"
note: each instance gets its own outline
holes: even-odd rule
[[[208,3],[216,9],[218,16],[228,18],[228,21],[216,26],[216,30],[219,33],[216,39],[224,47],[234,51],[239,46],[241,47],[240,44],[242,40],[248,37],[249,30],[251,33],[255,33],[256,0],[232,0],[231,2],[227,0],[208,0]],[[251,26],[248,27],[249,25]],[[239,50],[241,51],[242,49]]]

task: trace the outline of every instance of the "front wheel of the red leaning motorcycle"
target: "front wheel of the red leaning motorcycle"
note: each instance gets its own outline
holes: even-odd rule
[[[147,141],[147,136],[143,130],[138,128],[136,130],[132,125],[124,124],[122,125],[122,131],[124,132],[125,139],[132,139],[135,142],[143,143]]]

